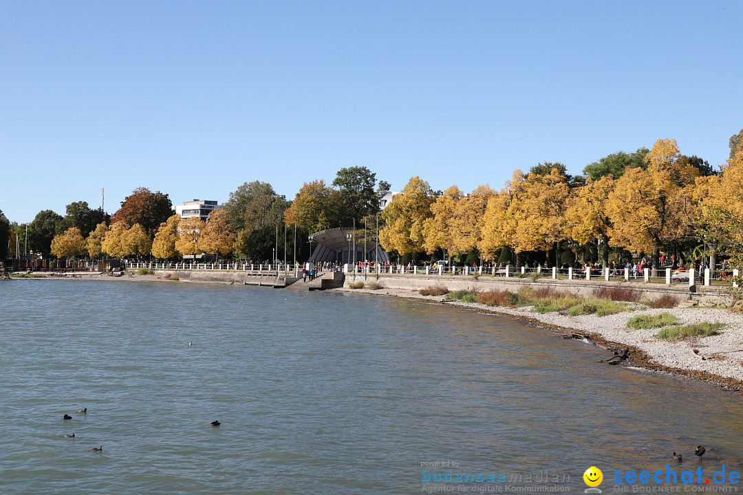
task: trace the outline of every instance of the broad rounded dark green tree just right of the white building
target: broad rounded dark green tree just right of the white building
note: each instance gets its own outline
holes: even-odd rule
[[[230,200],[224,203],[230,224],[235,232],[247,229],[248,232],[265,226],[282,223],[284,211],[289,202],[279,196],[269,183],[254,180],[243,183],[230,193]],[[184,253],[185,254],[185,253]]]

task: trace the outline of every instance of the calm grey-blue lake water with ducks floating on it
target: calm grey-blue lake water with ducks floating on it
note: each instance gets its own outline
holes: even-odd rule
[[[395,298],[0,282],[0,491],[415,494],[422,471],[450,469],[422,463],[453,461],[516,486],[548,471],[574,493],[595,465],[606,493],[614,471],[665,469],[672,451],[679,476],[695,469],[699,444],[705,476],[743,471],[738,396],[605,357]]]

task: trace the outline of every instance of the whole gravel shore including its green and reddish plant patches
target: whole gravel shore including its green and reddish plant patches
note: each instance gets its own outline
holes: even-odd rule
[[[581,297],[569,290],[334,289],[410,298],[516,318],[606,351],[604,364],[621,364],[698,378],[743,394],[743,314],[730,309],[677,307],[681,298],[640,300],[626,288],[601,288]]]

